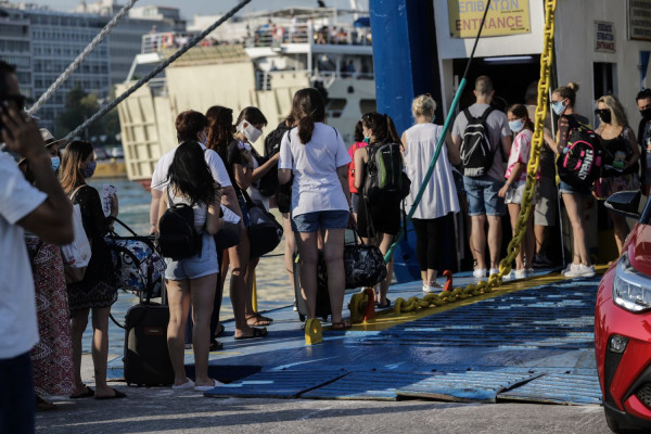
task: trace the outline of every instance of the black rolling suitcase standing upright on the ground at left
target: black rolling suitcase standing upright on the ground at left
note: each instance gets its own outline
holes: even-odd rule
[[[125,381],[128,385],[174,384],[174,369],[167,350],[169,307],[153,303],[148,294],[129,308],[125,317]]]

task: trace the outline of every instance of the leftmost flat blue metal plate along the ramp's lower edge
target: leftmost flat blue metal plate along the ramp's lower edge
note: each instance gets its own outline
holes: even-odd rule
[[[302,393],[346,375],[346,371],[258,372],[244,380],[215,387],[204,395],[213,398],[296,398]]]

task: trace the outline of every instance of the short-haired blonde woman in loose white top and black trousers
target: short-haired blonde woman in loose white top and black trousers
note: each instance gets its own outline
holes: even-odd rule
[[[443,132],[443,126],[434,124],[435,110],[436,102],[429,94],[417,97],[411,103],[416,125],[405,131],[401,138],[405,169],[411,180],[406,209],[411,209]],[[454,214],[459,213],[459,200],[450,163],[459,164],[459,149],[454,145],[448,133],[411,220],[416,230],[416,256],[423,279],[423,292],[443,290],[443,286],[436,283],[443,253],[441,246],[446,229],[454,228]]]

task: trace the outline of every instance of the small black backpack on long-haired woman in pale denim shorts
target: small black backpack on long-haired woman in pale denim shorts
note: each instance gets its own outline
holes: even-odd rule
[[[194,227],[192,205],[175,204],[167,190],[168,208],[158,220],[158,248],[161,255],[174,260],[201,253],[201,233]]]

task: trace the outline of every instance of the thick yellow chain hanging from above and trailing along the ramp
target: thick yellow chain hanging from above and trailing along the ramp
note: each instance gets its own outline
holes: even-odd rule
[[[441,294],[427,294],[422,298],[410,297],[405,301],[404,298],[397,298],[394,303],[394,312],[408,312],[418,309],[424,309],[432,306],[442,306],[444,304],[454,303],[459,299],[476,296],[484,293],[489,293],[493,289],[501,285],[502,277],[511,272],[511,264],[515,256],[520,252],[520,242],[526,232],[526,224],[532,213],[532,201],[536,190],[536,177],[538,175],[538,156],[540,154],[540,146],[544,140],[544,128],[545,117],[547,116],[547,99],[549,93],[549,76],[552,61],[552,49],[553,49],[553,35],[554,35],[554,14],[557,9],[558,0],[546,0],[545,1],[545,42],[542,46],[542,53],[540,55],[540,80],[538,81],[538,104],[536,106],[536,122],[534,137],[532,141],[532,151],[529,162],[526,168],[526,186],[524,189],[524,196],[522,199],[522,206],[520,208],[520,215],[518,216],[518,224],[515,227],[515,234],[509,243],[507,248],[507,257],[505,257],[499,264],[499,272],[497,275],[490,275],[487,281],[481,281],[476,284],[468,284],[465,288],[456,288],[454,291],[444,291]],[[365,303],[368,303],[368,296],[366,294],[355,294],[350,303],[350,317],[353,321],[361,317],[361,308]]]

